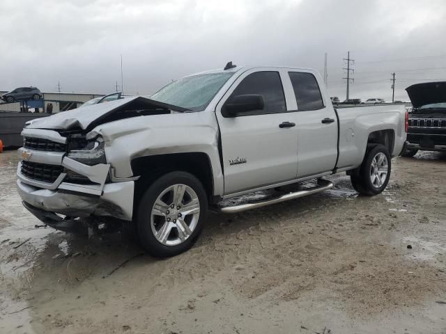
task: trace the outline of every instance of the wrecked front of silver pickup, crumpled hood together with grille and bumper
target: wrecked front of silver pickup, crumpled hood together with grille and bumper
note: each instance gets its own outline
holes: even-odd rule
[[[26,209],[59,230],[66,230],[68,221],[73,223],[77,217],[131,221],[138,176],[115,177],[105,154],[107,143],[92,129],[123,118],[171,113],[171,109],[135,97],[33,122],[22,131],[22,161],[17,166],[17,189]]]

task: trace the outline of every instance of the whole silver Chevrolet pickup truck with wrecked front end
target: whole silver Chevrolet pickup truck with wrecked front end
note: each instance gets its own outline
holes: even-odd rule
[[[322,177],[340,172],[358,192],[380,193],[406,141],[407,117],[402,104],[334,109],[314,70],[228,63],[150,98],[32,122],[22,132],[17,187],[47,225],[112,216],[127,222],[149,253],[168,257],[194,244],[209,207],[232,213],[298,198],[329,189]],[[309,179],[318,182],[217,206]]]

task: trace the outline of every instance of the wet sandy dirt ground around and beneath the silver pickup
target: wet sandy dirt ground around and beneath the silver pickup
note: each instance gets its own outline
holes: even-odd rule
[[[446,155],[390,184],[210,214],[187,253],[35,228],[0,154],[0,333],[446,333]]]

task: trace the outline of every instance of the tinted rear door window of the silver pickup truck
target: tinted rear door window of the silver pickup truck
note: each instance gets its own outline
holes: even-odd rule
[[[311,73],[289,72],[298,111],[316,110],[324,107],[318,81]]]

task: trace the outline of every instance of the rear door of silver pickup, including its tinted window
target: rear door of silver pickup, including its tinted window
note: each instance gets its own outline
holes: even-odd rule
[[[289,72],[298,105],[298,178],[330,172],[337,159],[337,117],[312,72]]]

